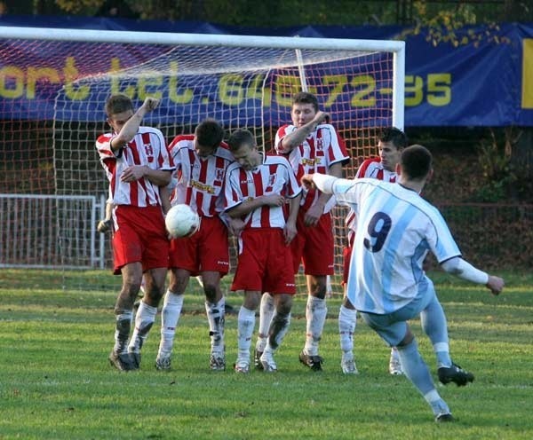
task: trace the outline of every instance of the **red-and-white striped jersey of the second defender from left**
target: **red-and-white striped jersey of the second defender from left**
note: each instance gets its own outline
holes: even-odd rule
[[[224,179],[234,161],[233,154],[222,142],[214,153],[201,157],[195,151],[194,135],[179,135],[169,145],[176,166],[177,185],[171,204],[185,203],[199,216],[217,216],[224,210]]]

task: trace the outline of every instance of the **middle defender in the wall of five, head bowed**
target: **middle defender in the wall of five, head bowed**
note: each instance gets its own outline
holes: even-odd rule
[[[262,292],[274,297],[267,345],[259,362],[267,372],[277,370],[274,351],[290,326],[292,295],[296,293],[290,242],[296,236],[301,188],[289,161],[258,151],[249,130],[236,130],[228,139],[235,162],[227,168],[226,212],[242,218],[239,256],[232,291],[243,290],[237,318],[236,373],[250,372],[251,336]],[[287,219],[284,205],[289,204]]]

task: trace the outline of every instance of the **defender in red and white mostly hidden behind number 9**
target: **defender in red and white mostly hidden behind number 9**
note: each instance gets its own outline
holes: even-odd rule
[[[407,146],[407,137],[402,130],[394,127],[388,127],[378,134],[378,151],[379,157],[372,157],[362,162],[356,178],[369,177],[386,182],[395,182],[396,164],[400,162],[402,151]],[[343,302],[338,311],[338,333],[340,335],[340,349],[342,358],[340,366],[345,374],[356,374],[357,367],[354,360],[354,331],[357,322],[357,310],[350,300],[346,297],[346,285],[348,282],[348,269],[350,267],[350,258],[352,256],[352,246],[354,245],[355,230],[357,228],[357,219],[354,210],[346,216],[346,227],[348,228],[347,243],[344,248],[344,270],[343,270],[343,287],[345,295]],[[395,347],[391,349],[389,359],[389,373],[393,375],[402,374],[402,366],[398,357],[398,350]]]

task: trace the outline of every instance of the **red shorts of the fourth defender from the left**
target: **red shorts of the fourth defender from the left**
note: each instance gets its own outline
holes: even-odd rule
[[[304,263],[306,275],[333,275],[333,230],[330,213],[323,214],[316,226],[304,224],[305,211],[298,211],[296,227],[298,234],[290,243],[294,273],[299,263]]]

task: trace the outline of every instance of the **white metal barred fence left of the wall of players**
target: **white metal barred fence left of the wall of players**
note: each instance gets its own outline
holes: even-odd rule
[[[0,267],[106,267],[93,196],[0,194]]]

